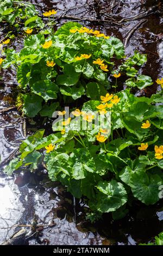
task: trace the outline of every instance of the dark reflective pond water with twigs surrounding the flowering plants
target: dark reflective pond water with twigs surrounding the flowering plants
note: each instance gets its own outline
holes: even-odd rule
[[[30,1],[28,1],[30,2]],[[145,75],[152,76],[153,81],[163,77],[162,71],[162,22],[161,1],[99,1],[99,8],[93,1],[32,1],[40,11],[57,9],[59,15],[81,17],[81,23],[93,29],[101,29],[108,35],[115,35],[126,45],[126,56],[135,50],[148,54],[147,64],[140,70]],[[77,8],[78,7],[78,8]],[[73,8],[73,9],[71,9]],[[143,17],[137,17],[143,15]],[[82,21],[86,19],[101,19],[103,22]],[[111,17],[112,20],[104,22]],[[130,19],[132,17],[132,19]],[[57,26],[67,21],[62,17]],[[127,20],[128,19],[128,20]],[[139,23],[145,20],[144,23]],[[131,29],[137,26],[131,33]],[[3,38],[4,27],[0,28]],[[15,41],[15,47],[21,47],[21,36]],[[148,242],[163,230],[163,204],[146,207],[135,202],[129,209],[129,214],[123,220],[112,221],[109,214],[95,224],[85,220],[89,209],[83,202],[74,200],[60,184],[48,180],[45,170],[32,174],[28,169],[12,177],[2,173],[2,165],[12,159],[24,134],[25,120],[12,109],[2,113],[2,109],[12,105],[5,101],[6,96],[12,97],[16,88],[15,72],[4,71],[0,82],[0,154],[2,164],[0,174],[0,242],[8,239],[19,227],[16,224],[31,224],[34,214],[39,217],[39,224],[51,224],[53,227],[42,230],[39,239],[29,241],[30,245],[135,245]],[[159,90],[154,83],[150,89],[137,92],[137,95],[149,96]],[[39,126],[39,125],[35,125]],[[27,135],[32,131],[27,124]]]

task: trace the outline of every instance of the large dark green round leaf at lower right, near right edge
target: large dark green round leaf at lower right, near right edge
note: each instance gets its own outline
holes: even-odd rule
[[[158,202],[160,185],[162,179],[157,174],[152,175],[142,171],[131,175],[130,186],[133,195],[146,205]]]

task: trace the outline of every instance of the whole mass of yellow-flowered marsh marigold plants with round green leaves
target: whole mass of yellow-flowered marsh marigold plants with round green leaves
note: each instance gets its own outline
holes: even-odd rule
[[[20,52],[7,48],[4,53],[3,68],[12,64],[17,70],[23,113],[51,118],[57,111],[59,116],[51,135],[44,137],[45,130],[39,130],[22,142],[5,173],[21,166],[34,171],[42,161],[52,181],[60,181],[76,198],[84,196],[93,211],[112,212],[114,218],[123,217],[133,200],[158,202],[162,92],[150,98],[130,93],[130,88],[153,84],[151,77],[138,75],[146,54],[124,59],[119,39],[76,22],[47,37],[27,36]],[[117,69],[115,59],[121,59]],[[122,76],[127,78],[124,90],[118,87]],[[97,124],[97,118],[104,122]]]

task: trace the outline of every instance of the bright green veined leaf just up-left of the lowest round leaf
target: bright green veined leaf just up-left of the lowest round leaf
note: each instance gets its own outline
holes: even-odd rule
[[[74,149],[70,160],[74,179],[84,179],[86,172],[95,172],[95,162],[87,149]]]

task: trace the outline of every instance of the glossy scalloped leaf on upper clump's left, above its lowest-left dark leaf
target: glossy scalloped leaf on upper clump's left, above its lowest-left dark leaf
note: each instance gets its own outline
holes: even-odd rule
[[[33,84],[33,92],[47,102],[50,99],[57,99],[58,86],[57,84],[44,80]]]

